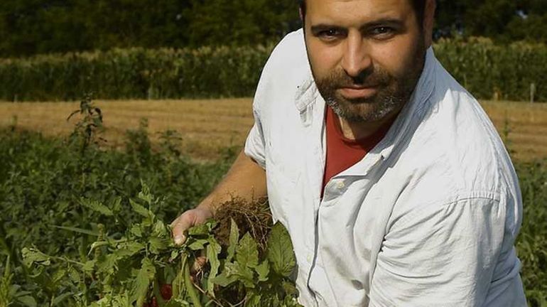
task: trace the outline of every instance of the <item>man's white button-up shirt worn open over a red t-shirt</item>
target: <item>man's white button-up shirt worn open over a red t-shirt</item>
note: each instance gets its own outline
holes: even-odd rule
[[[526,306],[514,168],[433,50],[384,139],[333,177],[323,199],[325,101],[301,30],[273,50],[253,111],[245,153],[266,169],[304,306]]]

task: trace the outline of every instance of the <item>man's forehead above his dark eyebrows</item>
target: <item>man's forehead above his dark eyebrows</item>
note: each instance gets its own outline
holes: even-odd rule
[[[306,0],[306,17],[312,23],[406,19],[412,14],[410,0]]]

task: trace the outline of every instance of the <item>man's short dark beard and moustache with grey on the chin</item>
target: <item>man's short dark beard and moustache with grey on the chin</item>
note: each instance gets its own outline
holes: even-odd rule
[[[422,41],[422,40],[419,40]],[[400,77],[392,75],[380,65],[371,65],[357,77],[347,75],[342,68],[323,78],[315,77],[315,84],[338,117],[347,122],[377,122],[386,118],[408,102],[420,79],[426,58],[423,43],[417,43],[410,64]],[[344,87],[374,87],[370,97],[347,98],[338,92]]]

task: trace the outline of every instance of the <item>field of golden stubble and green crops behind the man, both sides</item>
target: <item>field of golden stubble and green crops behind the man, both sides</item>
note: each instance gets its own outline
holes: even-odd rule
[[[94,275],[82,273],[79,276],[84,277],[75,280],[67,270],[79,266],[59,259],[102,262],[100,255],[89,252],[97,240],[90,230],[96,233],[106,225],[111,238],[131,230],[139,222],[131,201],[139,200],[141,183],[161,197],[153,210],[164,222],[193,208],[224,176],[253,122],[251,99],[97,104],[107,126],[102,136],[113,149],[85,142],[97,138],[75,129],[82,117],[66,121],[79,107],[75,103],[0,104],[0,306],[14,302],[13,306],[51,307],[47,302],[63,300],[55,306],[74,307],[97,301],[100,287]],[[482,104],[514,157],[519,157],[514,161],[524,212],[516,250],[529,306],[547,307],[547,106]],[[141,117],[148,117],[148,131],[139,128]],[[166,129],[179,131],[182,145],[176,138],[166,138],[176,134],[160,134]],[[116,208],[121,215],[104,216],[102,212],[109,212],[104,208]],[[37,248],[57,260],[43,271],[28,271],[23,247]],[[6,274],[8,259],[12,275]]]

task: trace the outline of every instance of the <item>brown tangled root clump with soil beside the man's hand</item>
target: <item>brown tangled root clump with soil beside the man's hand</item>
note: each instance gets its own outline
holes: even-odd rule
[[[229,245],[229,233],[231,220],[236,222],[239,228],[239,238],[247,232],[258,244],[259,253],[263,254],[266,250],[268,235],[273,226],[271,213],[267,198],[247,201],[242,198],[232,198],[232,200],[222,203],[218,206],[215,213],[215,220],[218,222],[215,228],[215,237],[222,247]]]

